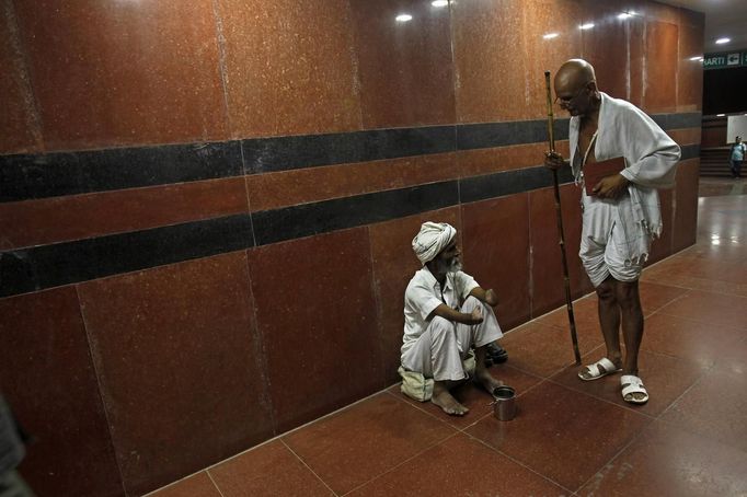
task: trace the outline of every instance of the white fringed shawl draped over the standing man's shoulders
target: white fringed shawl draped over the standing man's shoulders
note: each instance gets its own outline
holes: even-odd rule
[[[657,188],[675,185],[676,165],[680,159],[679,146],[643,111],[604,92],[599,108],[599,120],[594,155],[597,161],[617,157],[625,158],[625,169],[620,173],[630,181],[630,212],[616,216],[625,226],[627,247],[636,263],[648,256],[650,241],[662,233],[662,212]],[[571,143],[571,166],[576,183],[581,182],[583,151],[578,150],[581,117],[571,118],[568,140]]]

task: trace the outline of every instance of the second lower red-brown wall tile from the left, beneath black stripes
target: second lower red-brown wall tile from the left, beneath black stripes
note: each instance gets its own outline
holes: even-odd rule
[[[128,494],[273,436],[244,252],[79,291]]]

